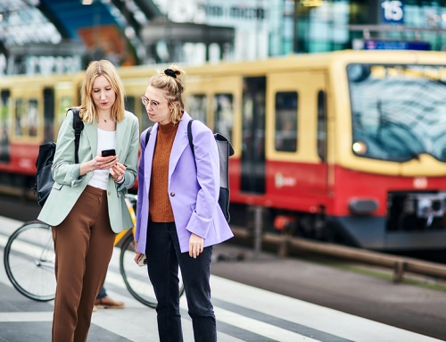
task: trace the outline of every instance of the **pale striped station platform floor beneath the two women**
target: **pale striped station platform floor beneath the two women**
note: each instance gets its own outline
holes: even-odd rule
[[[12,231],[21,222],[0,218],[0,250]],[[216,248],[217,249],[217,248]],[[105,287],[109,296],[122,300],[122,310],[100,309],[93,313],[89,342],[157,341],[156,313],[139,304],[129,294],[120,277],[119,250],[115,249]],[[276,263],[274,257],[266,257],[262,263]],[[308,265],[311,267],[311,265]],[[137,266],[136,266],[137,267]],[[290,263],[283,263],[277,272],[295,273]],[[293,265],[295,267],[295,264]],[[323,267],[323,266],[318,266]],[[234,270],[237,268],[235,267]],[[252,267],[252,269],[255,269]],[[327,267],[327,274],[333,269]],[[308,276],[308,274],[307,274]],[[280,279],[277,279],[280,281]],[[349,281],[353,281],[353,277]],[[326,279],[326,286],[330,286]],[[333,284],[335,286],[335,284]],[[324,342],[430,342],[429,338],[343,313],[318,304],[290,296],[254,288],[239,282],[211,277],[212,298],[218,321],[219,342],[266,342],[266,341],[324,341]],[[442,294],[445,296],[445,294]],[[422,301],[422,298],[417,298]],[[182,317],[185,342],[194,341],[191,321],[187,315],[186,300],[182,298]],[[21,296],[12,288],[0,268],[0,340],[11,342],[47,342],[51,340],[52,302],[37,303]]]

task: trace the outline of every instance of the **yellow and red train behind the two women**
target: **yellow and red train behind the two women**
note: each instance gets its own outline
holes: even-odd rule
[[[231,220],[377,250],[446,247],[446,54],[343,51],[187,67],[186,106],[230,139]],[[128,110],[155,66],[120,68]],[[82,73],[0,78],[0,185],[30,188]]]

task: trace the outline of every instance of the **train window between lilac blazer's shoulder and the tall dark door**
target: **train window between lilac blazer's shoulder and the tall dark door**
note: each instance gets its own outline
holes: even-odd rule
[[[232,94],[216,94],[214,96],[214,132],[219,132],[231,140],[233,122]]]

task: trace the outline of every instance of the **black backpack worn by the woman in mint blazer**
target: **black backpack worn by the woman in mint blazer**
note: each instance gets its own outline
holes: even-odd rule
[[[80,133],[84,129],[84,122],[79,117],[78,108],[70,108],[73,112],[73,129],[74,129],[74,159],[79,163],[78,150]],[[34,194],[37,191],[37,203],[44,206],[46,198],[50,195],[53,188],[54,179],[51,173],[53,166],[56,143],[48,141],[38,147],[38,155],[36,160],[36,182],[34,183]]]

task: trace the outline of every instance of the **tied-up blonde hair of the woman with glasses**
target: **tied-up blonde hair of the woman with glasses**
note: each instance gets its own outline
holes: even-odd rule
[[[177,123],[180,121],[181,113],[185,110],[185,103],[183,100],[183,86],[182,79],[186,76],[186,71],[178,68],[176,64],[171,64],[168,69],[158,71],[150,81],[149,86],[164,90],[164,96],[172,108],[170,112],[169,121]]]

